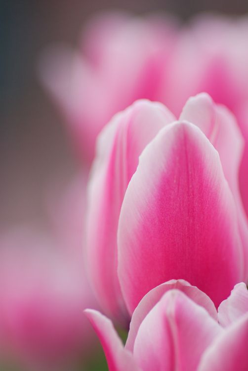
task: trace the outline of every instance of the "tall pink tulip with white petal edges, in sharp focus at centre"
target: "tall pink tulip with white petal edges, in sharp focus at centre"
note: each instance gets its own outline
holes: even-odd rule
[[[138,101],[99,136],[87,266],[103,308],[119,321],[124,304],[131,315],[168,279],[191,281],[216,306],[247,279],[238,187],[243,140],[235,118],[203,93],[175,120],[162,104]]]

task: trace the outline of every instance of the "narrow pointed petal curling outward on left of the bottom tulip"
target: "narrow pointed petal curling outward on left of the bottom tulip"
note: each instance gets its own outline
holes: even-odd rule
[[[124,349],[112,322],[93,309],[84,312],[101,341],[109,371],[138,371],[132,354]]]

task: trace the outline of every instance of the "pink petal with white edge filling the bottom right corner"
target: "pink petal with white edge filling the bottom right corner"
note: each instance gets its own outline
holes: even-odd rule
[[[228,326],[206,350],[198,371],[248,370],[248,314]]]

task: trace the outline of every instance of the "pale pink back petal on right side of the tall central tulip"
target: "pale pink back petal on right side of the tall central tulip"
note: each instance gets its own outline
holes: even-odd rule
[[[233,114],[215,104],[207,93],[200,93],[186,102],[181,120],[197,125],[217,149],[223,172],[234,195],[238,210],[239,229],[248,271],[248,220],[239,189],[239,168],[244,151],[244,139]],[[248,272],[246,278],[248,277]]]

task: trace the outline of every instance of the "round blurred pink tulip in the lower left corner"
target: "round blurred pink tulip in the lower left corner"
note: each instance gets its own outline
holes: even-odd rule
[[[25,370],[68,370],[92,344],[82,310],[96,308],[82,265],[41,232],[0,243],[0,359]]]

